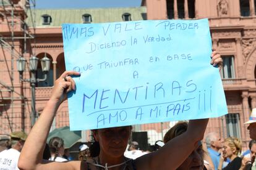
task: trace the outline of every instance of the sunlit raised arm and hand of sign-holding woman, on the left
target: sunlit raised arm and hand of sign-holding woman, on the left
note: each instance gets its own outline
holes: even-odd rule
[[[66,93],[75,90],[75,82],[70,77],[72,75],[79,75],[79,73],[75,71],[65,71],[60,78],[55,81],[51,98],[30,131],[24,147],[22,148],[22,152],[20,153],[18,163],[20,169],[72,169],[72,166],[79,164],[75,162],[50,163],[49,161],[43,161],[43,150],[45,149],[46,139],[56,111],[59,105],[66,99]],[[67,81],[64,78],[66,78]]]

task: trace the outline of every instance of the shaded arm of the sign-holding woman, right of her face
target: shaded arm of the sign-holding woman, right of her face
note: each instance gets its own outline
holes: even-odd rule
[[[160,150],[137,158],[137,169],[177,169],[203,139],[208,119],[189,121],[184,134],[175,137]]]

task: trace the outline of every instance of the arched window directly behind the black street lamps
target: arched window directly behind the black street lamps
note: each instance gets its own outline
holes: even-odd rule
[[[39,83],[36,83],[36,87],[51,87],[51,86],[53,86],[53,59],[52,59],[52,57],[45,53],[38,54],[36,57],[38,57],[38,59],[43,59],[43,57],[45,57],[45,55],[46,55],[46,57],[48,57],[51,60],[50,69],[47,73],[46,81],[40,81]],[[42,71],[41,63],[38,62],[37,70],[36,70],[36,78],[42,79],[42,78],[44,78],[44,76],[45,75]]]

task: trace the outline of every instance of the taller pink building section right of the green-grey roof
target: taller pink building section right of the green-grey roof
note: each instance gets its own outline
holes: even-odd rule
[[[248,142],[244,122],[256,107],[256,17],[254,0],[143,0],[148,20],[208,18],[213,49],[223,58],[228,115],[210,119],[207,132]]]

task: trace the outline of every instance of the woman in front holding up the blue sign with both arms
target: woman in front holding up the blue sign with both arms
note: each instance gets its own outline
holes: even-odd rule
[[[211,64],[221,65],[222,59],[218,52],[212,52],[211,57]],[[198,141],[203,139],[208,119],[190,120],[187,131],[170,140],[160,150],[136,160],[129,160],[124,157],[124,151],[131,134],[131,126],[96,129],[93,130],[93,136],[99,143],[99,150],[92,162],[59,163],[43,160],[46,138],[56,111],[66,99],[67,92],[75,90],[75,82],[71,76],[78,75],[75,71],[65,71],[55,81],[51,98],[30,131],[20,154],[20,169],[176,169],[197,147]]]

